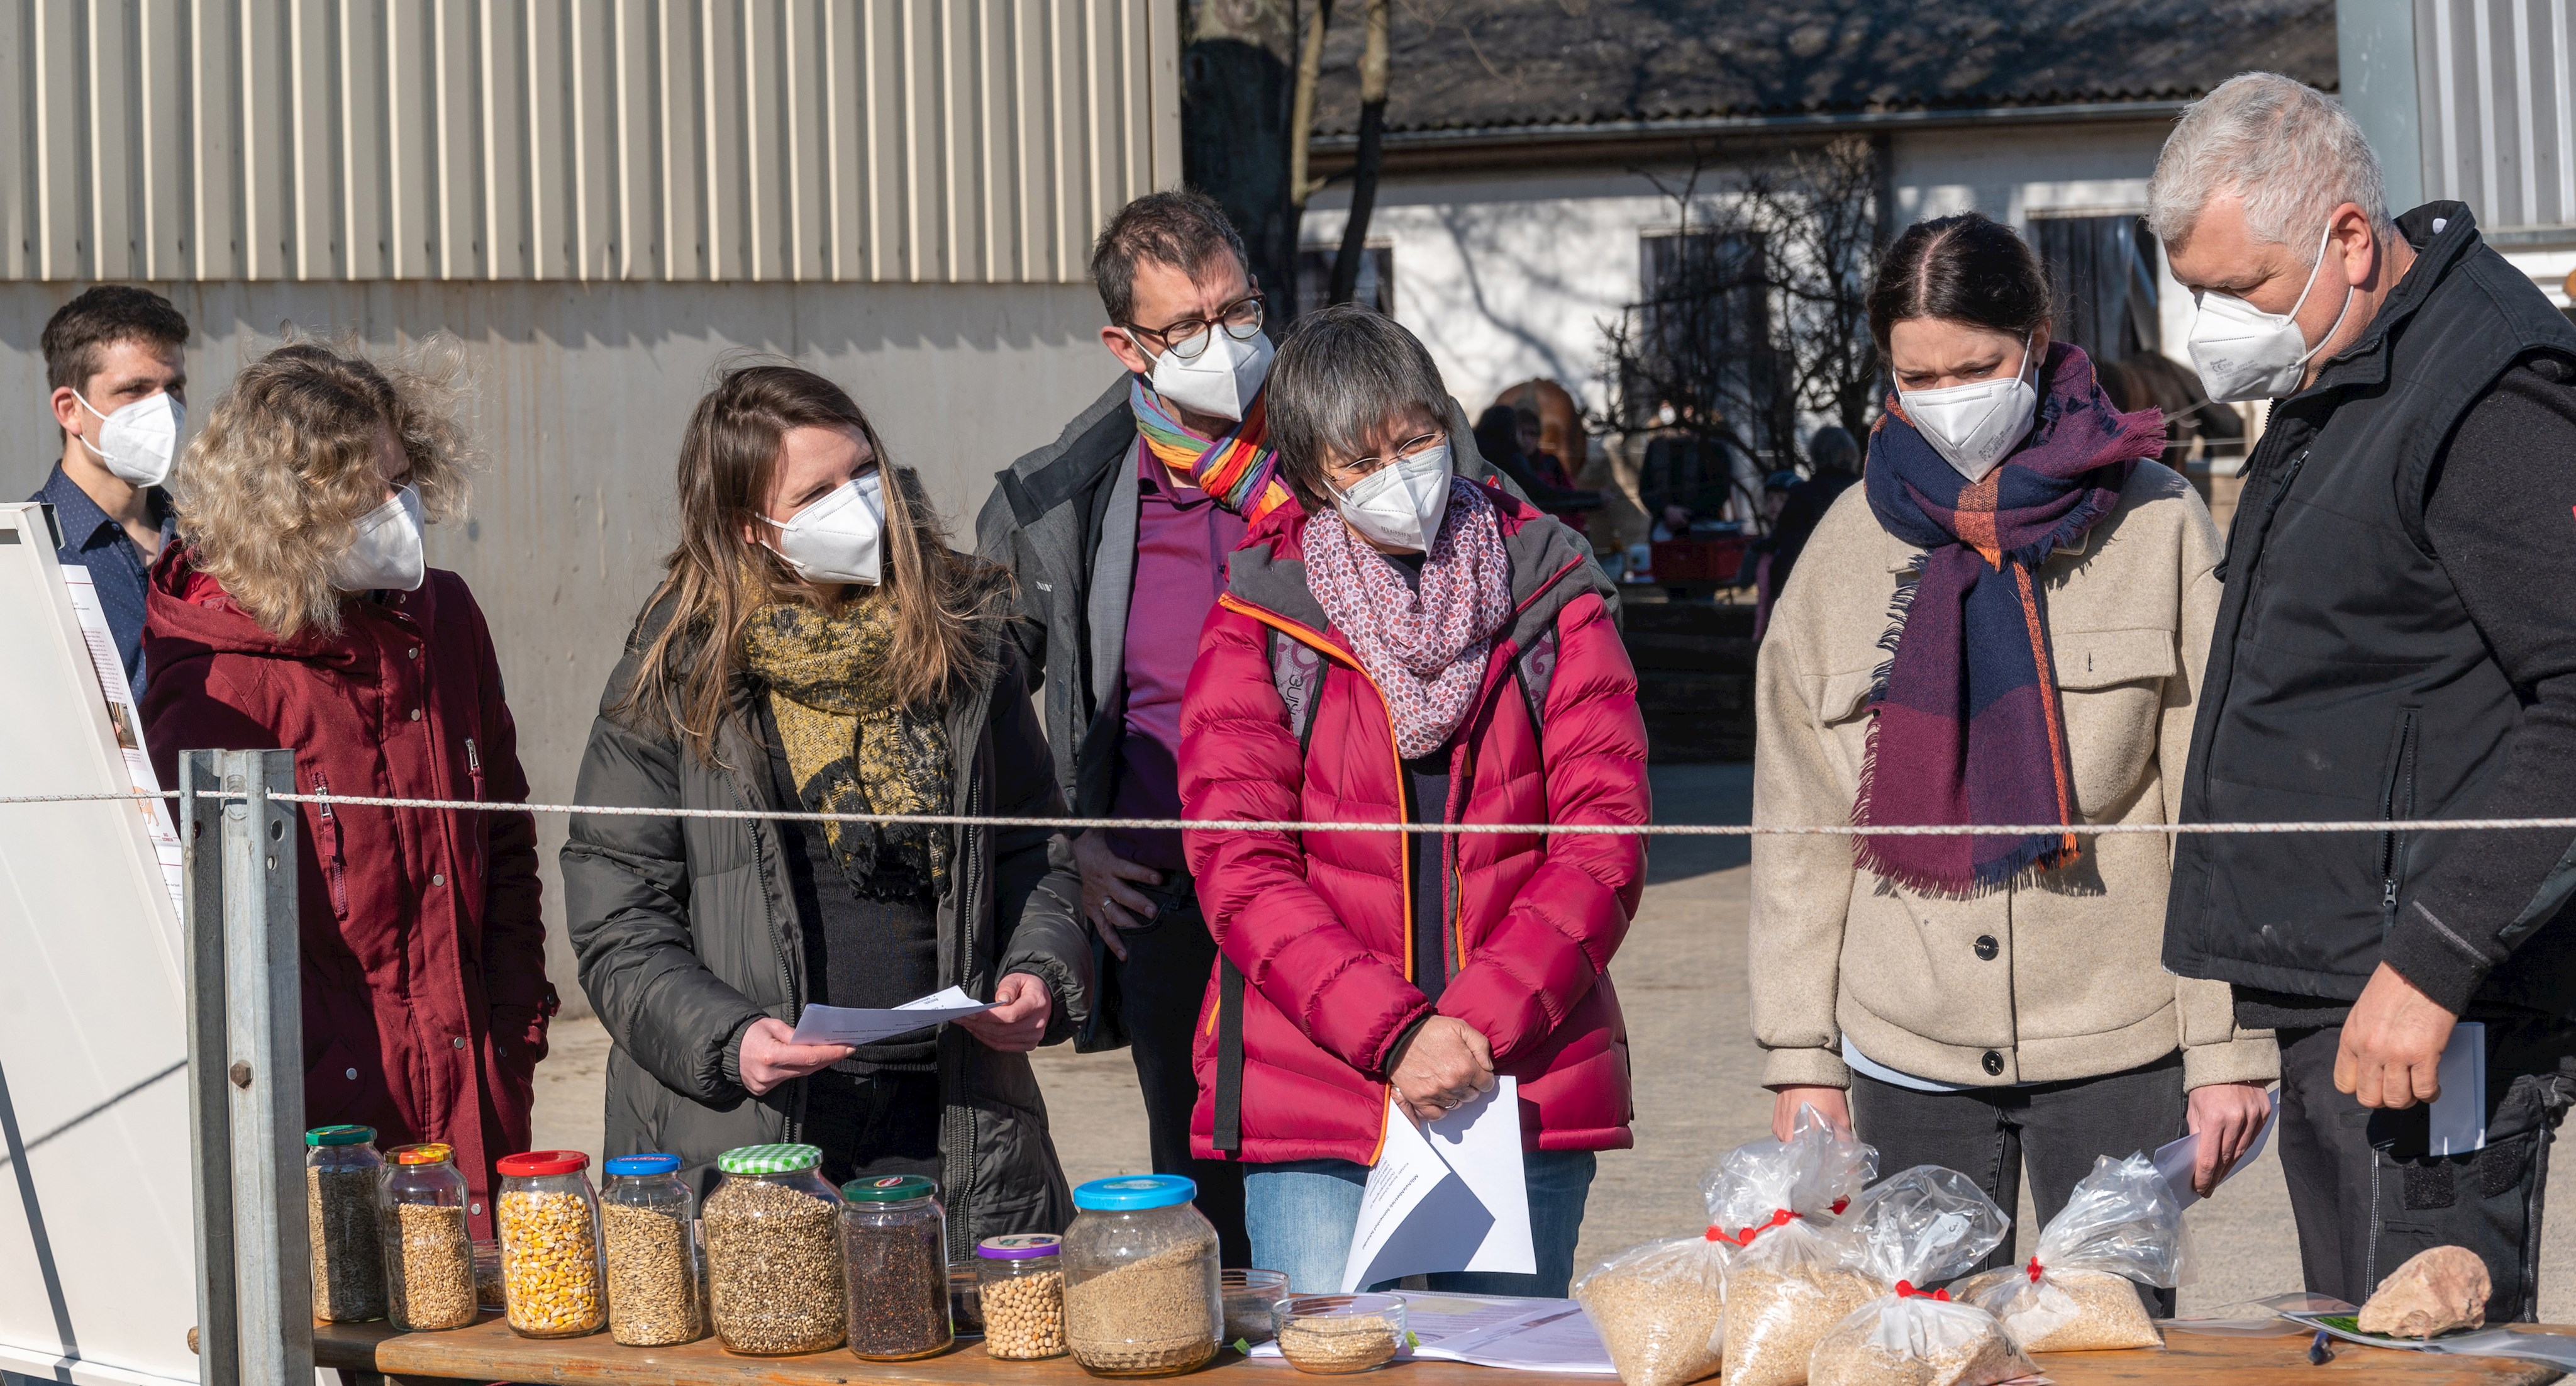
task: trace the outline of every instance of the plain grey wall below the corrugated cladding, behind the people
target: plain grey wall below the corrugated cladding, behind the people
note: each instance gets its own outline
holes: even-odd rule
[[[0,283],[0,495],[33,492],[62,453],[39,332],[77,283]],[[572,799],[592,708],[675,528],[680,428],[737,350],[837,379],[896,461],[922,469],[961,546],[992,474],[1051,441],[1118,368],[1090,286],[755,283],[162,283],[196,325],[204,415],[283,322],[386,348],[464,340],[489,451],[466,523],[430,531],[492,621],[520,760],[538,799]],[[554,871],[562,817],[538,817],[549,974],[587,1010]]]

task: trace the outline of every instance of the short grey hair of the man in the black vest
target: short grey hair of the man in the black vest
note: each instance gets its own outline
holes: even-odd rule
[[[2388,229],[2388,183],[2362,126],[2280,72],[2239,72],[2182,111],[2146,183],[2146,227],[2182,242],[2221,193],[2244,198],[2254,240],[2295,247],[2303,265],[2347,201]]]

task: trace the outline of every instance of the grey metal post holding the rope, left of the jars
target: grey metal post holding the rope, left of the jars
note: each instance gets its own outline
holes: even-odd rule
[[[222,809],[224,1054],[242,1381],[312,1381],[304,1229],[304,987],[296,961],[296,814],[289,750],[227,750]]]

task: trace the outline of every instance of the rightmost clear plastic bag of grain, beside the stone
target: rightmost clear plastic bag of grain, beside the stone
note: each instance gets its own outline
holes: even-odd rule
[[[2099,1157],[2040,1229],[2030,1265],[1950,1286],[2004,1322],[2022,1353],[2164,1347],[2138,1286],[2182,1283],[2182,1203],[2146,1154]]]

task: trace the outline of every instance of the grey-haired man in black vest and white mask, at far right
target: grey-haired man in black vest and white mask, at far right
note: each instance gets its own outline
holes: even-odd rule
[[[2576,814],[2576,327],[2468,206],[2391,219],[2352,116],[2272,72],[2184,111],[2148,227],[2210,397],[2272,399],[2182,817]],[[2277,1030],[2308,1291],[2460,1244],[2488,1319],[2535,1316],[2571,863],[2563,830],[2177,840],[2164,964]]]

